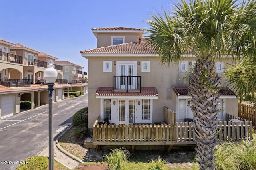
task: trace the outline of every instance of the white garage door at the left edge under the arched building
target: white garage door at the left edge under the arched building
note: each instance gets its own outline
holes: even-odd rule
[[[14,96],[4,96],[1,100],[1,117],[14,113]]]

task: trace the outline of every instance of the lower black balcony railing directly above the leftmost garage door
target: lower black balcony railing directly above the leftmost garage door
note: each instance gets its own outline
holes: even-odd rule
[[[0,85],[6,87],[29,87],[32,79],[0,79]]]

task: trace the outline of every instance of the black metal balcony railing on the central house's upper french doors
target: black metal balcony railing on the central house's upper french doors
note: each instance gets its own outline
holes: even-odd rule
[[[141,91],[141,76],[114,76],[114,90]]]

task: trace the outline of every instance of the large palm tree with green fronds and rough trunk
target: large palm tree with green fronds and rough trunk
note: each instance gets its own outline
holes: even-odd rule
[[[235,60],[255,57],[255,11],[255,0],[181,0],[171,14],[163,11],[148,20],[148,42],[159,54],[162,65],[178,63],[184,54],[197,57],[188,89],[201,170],[216,167],[214,148],[221,83],[214,60],[223,56]]]

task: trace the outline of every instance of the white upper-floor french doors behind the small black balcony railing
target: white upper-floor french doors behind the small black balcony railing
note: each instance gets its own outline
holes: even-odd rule
[[[116,68],[118,78],[118,89],[136,89],[137,79],[132,76],[137,76],[136,61],[117,61]]]

